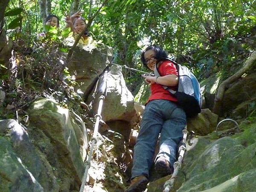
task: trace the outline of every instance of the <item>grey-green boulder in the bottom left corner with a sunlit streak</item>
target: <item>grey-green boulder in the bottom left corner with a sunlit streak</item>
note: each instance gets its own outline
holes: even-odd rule
[[[36,151],[25,128],[13,119],[0,121],[0,191],[55,192],[56,178]]]

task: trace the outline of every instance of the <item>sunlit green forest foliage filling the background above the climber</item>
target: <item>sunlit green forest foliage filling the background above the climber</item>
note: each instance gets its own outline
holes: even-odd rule
[[[58,15],[63,29],[65,14],[82,9],[88,19],[102,3],[90,33],[114,48],[118,64],[142,68],[141,49],[159,44],[201,79],[219,71],[230,76],[255,47],[255,0],[11,0],[4,27],[13,41],[31,47],[47,13]],[[139,74],[125,75],[134,92]]]

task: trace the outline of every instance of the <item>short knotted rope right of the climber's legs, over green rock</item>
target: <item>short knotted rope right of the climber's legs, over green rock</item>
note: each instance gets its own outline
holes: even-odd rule
[[[178,160],[173,165],[174,172],[172,174],[172,177],[169,180],[167,180],[163,185],[163,187],[164,187],[163,192],[169,192],[172,189],[172,187],[174,186],[174,180],[177,177],[178,171],[181,167],[183,156],[186,151],[186,137],[188,134],[187,125],[185,126],[185,128],[183,129],[182,132],[183,132],[183,139],[181,142],[182,144],[179,147],[179,157],[178,157]]]

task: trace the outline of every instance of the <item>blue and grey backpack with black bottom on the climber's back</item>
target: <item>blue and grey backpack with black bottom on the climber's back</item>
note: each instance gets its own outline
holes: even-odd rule
[[[160,59],[160,61],[163,60],[168,60],[175,64],[178,72],[177,90],[172,90],[167,86],[163,86],[163,88],[177,98],[178,105],[183,108],[187,117],[196,116],[201,112],[202,106],[202,95],[198,80],[186,66],[181,66],[169,58]],[[154,68],[154,75],[160,76],[156,65]]]

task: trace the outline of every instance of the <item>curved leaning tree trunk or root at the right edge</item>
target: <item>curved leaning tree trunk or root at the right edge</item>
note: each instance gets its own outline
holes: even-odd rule
[[[245,62],[244,67],[242,67],[233,76],[230,76],[228,79],[226,79],[220,84],[220,86],[218,87],[218,92],[216,93],[216,96],[215,96],[215,102],[212,110],[213,113],[217,115],[221,114],[222,100],[224,98],[224,92],[227,88],[227,85],[233,83],[234,81],[239,79],[244,73],[250,70],[253,64],[255,64],[255,61],[256,61],[256,51],[250,55],[248,60]]]

